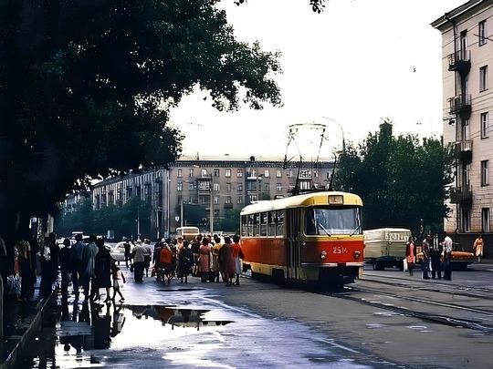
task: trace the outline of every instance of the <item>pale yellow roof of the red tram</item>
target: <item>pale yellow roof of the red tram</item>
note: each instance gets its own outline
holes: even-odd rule
[[[282,210],[305,207],[309,205],[328,205],[329,196],[342,196],[344,205],[362,206],[362,199],[353,193],[339,191],[310,192],[278,200],[262,200],[247,205],[241,214],[257,213],[262,211]]]

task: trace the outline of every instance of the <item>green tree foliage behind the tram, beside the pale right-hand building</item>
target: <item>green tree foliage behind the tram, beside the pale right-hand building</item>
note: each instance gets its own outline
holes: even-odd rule
[[[404,227],[416,233],[442,230],[449,213],[446,188],[452,182],[453,156],[436,138],[393,137],[392,123],[341,155],[334,189],[363,200],[365,229]],[[423,229],[421,229],[423,227]]]

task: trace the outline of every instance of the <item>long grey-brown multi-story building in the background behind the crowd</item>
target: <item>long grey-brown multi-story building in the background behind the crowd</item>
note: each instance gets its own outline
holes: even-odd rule
[[[131,198],[146,201],[152,207],[152,238],[169,237],[185,225],[219,231],[227,210],[241,210],[257,200],[289,196],[295,187],[324,190],[332,170],[332,161],[183,157],[168,169],[100,181],[92,190],[92,203],[93,209],[98,210],[121,206]],[[195,208],[204,218],[197,221],[196,217],[187,217],[184,208],[188,212]]]

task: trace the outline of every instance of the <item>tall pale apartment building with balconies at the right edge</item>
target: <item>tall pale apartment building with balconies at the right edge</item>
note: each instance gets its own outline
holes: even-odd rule
[[[442,33],[444,141],[456,149],[456,180],[445,231],[470,250],[478,234],[493,242],[489,167],[493,159],[493,1],[473,0],[436,19]]]

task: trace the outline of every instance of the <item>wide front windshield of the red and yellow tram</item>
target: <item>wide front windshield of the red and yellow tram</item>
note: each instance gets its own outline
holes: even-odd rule
[[[305,210],[305,234],[361,234],[359,208],[309,208]]]

